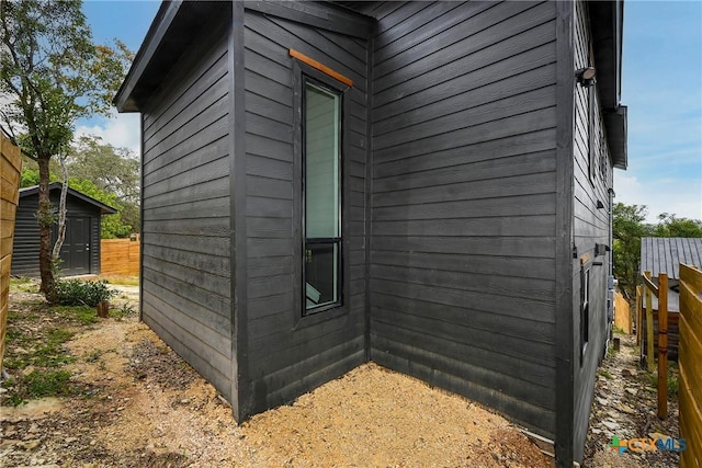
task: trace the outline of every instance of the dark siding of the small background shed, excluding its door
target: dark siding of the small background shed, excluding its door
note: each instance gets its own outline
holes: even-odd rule
[[[60,191],[50,191],[50,201],[58,206]],[[38,194],[20,197],[14,225],[14,242],[12,244],[13,275],[39,275],[39,225],[36,220],[38,209]],[[90,219],[90,271],[89,274],[100,274],[100,208],[90,203],[71,196],[66,197],[67,217]],[[53,242],[56,232],[54,232]],[[52,244],[53,246],[53,244]],[[65,272],[70,274],[70,272]]]

